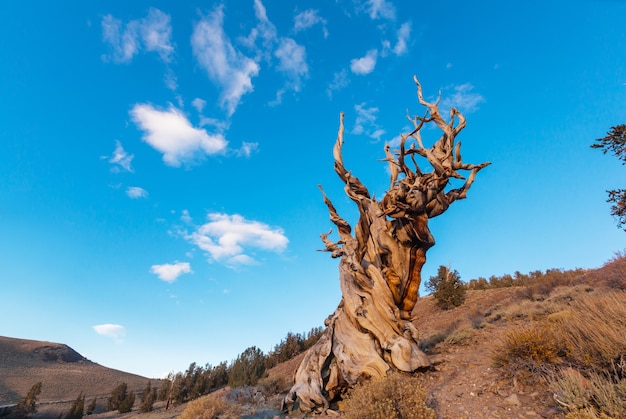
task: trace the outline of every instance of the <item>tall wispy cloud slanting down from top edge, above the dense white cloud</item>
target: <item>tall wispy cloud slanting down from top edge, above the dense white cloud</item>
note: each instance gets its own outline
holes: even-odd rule
[[[230,116],[241,97],[253,90],[252,77],[259,73],[259,66],[233,47],[224,34],[223,23],[224,12],[218,7],[195,25],[191,46],[198,63],[220,86],[220,105]]]

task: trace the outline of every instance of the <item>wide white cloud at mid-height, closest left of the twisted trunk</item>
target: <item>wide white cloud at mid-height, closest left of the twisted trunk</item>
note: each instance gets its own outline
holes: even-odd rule
[[[199,226],[187,239],[209,254],[212,260],[226,265],[249,265],[254,259],[246,249],[281,252],[289,240],[281,228],[272,228],[241,215],[211,213],[208,222]]]

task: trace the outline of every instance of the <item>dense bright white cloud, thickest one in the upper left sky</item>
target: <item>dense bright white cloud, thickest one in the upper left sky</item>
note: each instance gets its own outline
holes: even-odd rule
[[[144,131],[143,140],[163,153],[163,161],[169,166],[179,167],[205,154],[220,153],[228,144],[222,134],[209,135],[206,130],[193,127],[174,107],[161,111],[138,104],[130,114]]]

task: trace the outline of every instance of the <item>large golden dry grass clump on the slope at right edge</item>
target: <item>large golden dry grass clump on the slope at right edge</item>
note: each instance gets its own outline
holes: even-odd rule
[[[567,418],[626,417],[626,292],[593,291],[567,287],[510,307],[509,318],[527,324],[505,335],[493,359],[510,374],[544,378]]]

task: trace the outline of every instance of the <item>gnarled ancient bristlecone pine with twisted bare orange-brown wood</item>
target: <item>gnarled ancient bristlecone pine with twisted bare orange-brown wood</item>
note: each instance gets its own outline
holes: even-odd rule
[[[326,331],[306,353],[294,385],[283,401],[287,411],[297,401],[303,411],[323,412],[329,402],[360,379],[382,377],[389,370],[412,372],[430,365],[418,348],[418,334],[411,312],[418,298],[421,269],[426,251],[435,244],[428,219],[442,214],[457,199],[466,197],[476,173],[489,165],[463,163],[461,143],[456,136],[465,127],[465,118],[456,109],[445,121],[437,103],[424,100],[417,85],[425,116],[408,117],[414,129],[403,134],[393,154],[385,147],[391,172],[389,191],[382,201],[343,165],[343,114],[333,149],[335,172],[345,183],[348,197],[359,209],[359,221],[352,234],[350,225],[339,216],[322,191],[330,219],[337,226],[339,240],[322,234],[326,251],[341,258],[339,281],[342,299],[326,319]],[[421,130],[434,123],[441,137],[425,147]],[[425,158],[431,171],[423,171],[416,158]],[[446,190],[450,178],[465,179],[460,188]]]

